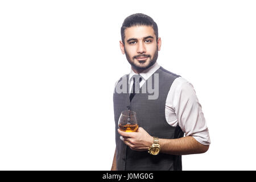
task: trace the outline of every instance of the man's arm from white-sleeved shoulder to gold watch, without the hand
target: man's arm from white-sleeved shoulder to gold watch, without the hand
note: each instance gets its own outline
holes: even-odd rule
[[[186,155],[208,150],[210,138],[204,114],[193,85],[184,78],[177,78],[168,93],[166,120],[171,126],[179,125],[186,137],[159,139],[162,152]]]

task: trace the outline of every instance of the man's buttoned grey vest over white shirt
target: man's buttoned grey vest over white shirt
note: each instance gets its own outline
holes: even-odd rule
[[[137,113],[139,127],[143,127],[152,137],[174,139],[184,136],[179,125],[173,127],[167,123],[165,115],[167,94],[171,88],[172,82],[175,78],[179,77],[179,75],[175,75],[162,67],[155,73],[158,73],[159,76],[159,97],[156,100],[148,100],[148,95],[150,94],[148,92],[140,92],[135,94],[133,100],[130,102],[128,92],[129,75],[125,76],[127,78],[126,93],[114,93],[115,144],[117,147],[116,159],[118,170],[167,171],[182,169],[181,155],[169,155],[160,152],[159,155],[153,156],[148,154],[147,151],[133,151],[123,143],[117,132],[118,119],[122,110],[127,110],[127,106],[131,106],[131,110]],[[151,78],[154,88],[154,74]],[[147,81],[145,84],[147,84]]]

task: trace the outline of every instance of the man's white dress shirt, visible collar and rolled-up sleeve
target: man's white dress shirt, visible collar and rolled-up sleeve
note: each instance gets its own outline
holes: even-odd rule
[[[140,73],[139,75],[142,76],[140,87],[159,68],[160,65],[155,63]],[[131,69],[129,74],[130,92],[133,86],[133,79],[131,79],[133,75],[137,75],[137,73]],[[208,127],[196,92],[193,85],[183,77],[177,77],[172,83],[166,98],[165,113],[169,125],[174,127],[179,125],[185,136],[192,136],[201,144],[210,144]]]

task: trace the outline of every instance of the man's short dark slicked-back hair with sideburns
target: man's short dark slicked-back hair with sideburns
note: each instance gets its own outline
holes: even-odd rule
[[[122,42],[125,44],[125,29],[133,26],[151,26],[154,29],[156,42],[158,41],[158,25],[154,22],[154,20],[145,14],[136,13],[128,16],[122,24],[121,27],[121,37]]]

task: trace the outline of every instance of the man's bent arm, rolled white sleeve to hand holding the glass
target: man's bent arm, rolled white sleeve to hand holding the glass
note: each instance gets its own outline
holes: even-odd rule
[[[177,79],[166,101],[166,112],[169,110],[167,115],[170,115],[171,111],[174,115],[170,120],[169,118],[166,120],[170,125],[175,125],[172,120],[176,118],[178,122],[176,125],[179,124],[186,137],[159,139],[160,152],[172,155],[204,153],[209,148],[210,139],[201,105],[192,84],[183,78]],[[119,130],[118,132],[122,135],[123,142],[131,150],[146,151],[153,142],[153,138],[142,127],[139,127],[138,132],[134,133],[125,133]]]

